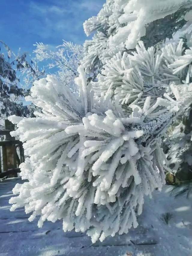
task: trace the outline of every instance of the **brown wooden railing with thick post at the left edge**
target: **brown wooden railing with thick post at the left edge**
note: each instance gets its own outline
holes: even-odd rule
[[[0,152],[2,150],[0,178],[5,176],[17,177],[17,173],[20,172],[19,164],[24,162],[22,142],[10,136],[10,131],[14,130],[15,126],[9,120],[5,120],[5,129],[0,130],[0,135],[3,137],[3,140],[0,141]]]

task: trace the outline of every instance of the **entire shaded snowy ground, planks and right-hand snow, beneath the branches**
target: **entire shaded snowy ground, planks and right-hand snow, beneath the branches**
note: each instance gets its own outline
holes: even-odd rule
[[[62,222],[46,222],[37,227],[37,220],[29,222],[24,209],[10,212],[9,198],[13,186],[20,179],[0,182],[0,255],[66,255],[66,256],[191,256],[192,255],[192,199],[173,197],[165,186],[147,199],[142,223],[128,234],[110,237],[101,244],[91,243],[83,233],[62,231]],[[166,224],[161,215],[173,217]]]

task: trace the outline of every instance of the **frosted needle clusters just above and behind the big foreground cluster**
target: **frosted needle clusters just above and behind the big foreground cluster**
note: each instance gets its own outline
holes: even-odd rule
[[[184,51],[182,39],[178,44],[169,43],[157,50],[149,47],[147,50],[142,41],[136,46],[136,51],[117,53],[98,74],[97,82],[92,82],[92,88],[98,96],[111,97],[119,100],[126,111],[131,111],[134,104],[143,107],[147,97],[151,97],[150,106],[155,104],[158,97],[162,97],[169,84],[180,84],[184,68],[190,62],[190,57],[182,56]],[[187,63],[173,70],[177,62],[187,59]],[[190,67],[189,67],[190,70]],[[188,72],[191,76],[191,74]],[[188,77],[189,77],[188,75]],[[189,79],[186,80],[189,83]]]

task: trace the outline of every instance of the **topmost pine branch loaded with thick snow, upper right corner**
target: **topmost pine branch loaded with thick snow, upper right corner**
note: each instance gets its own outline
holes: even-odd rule
[[[84,43],[85,69],[100,69],[119,51],[129,53],[141,38],[146,47],[171,38],[186,23],[190,25],[191,5],[191,0],[107,0],[98,15],[83,24],[86,35],[95,32]]]

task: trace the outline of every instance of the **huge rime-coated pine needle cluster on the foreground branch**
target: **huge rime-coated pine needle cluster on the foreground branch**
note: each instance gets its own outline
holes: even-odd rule
[[[150,97],[143,108],[132,105],[127,115],[110,98],[94,97],[87,85],[83,67],[78,68],[79,98],[67,86],[47,76],[34,83],[28,100],[42,108],[36,118],[11,116],[18,129],[11,132],[24,142],[25,163],[20,165],[22,179],[13,189],[11,210],[25,206],[40,215],[38,226],[47,219],[63,219],[63,230],[84,232],[92,242],[106,236],[127,233],[137,227],[144,195],[164,183],[161,149],[162,132],[179,109],[192,98],[176,100]]]

